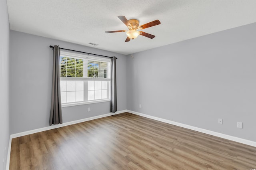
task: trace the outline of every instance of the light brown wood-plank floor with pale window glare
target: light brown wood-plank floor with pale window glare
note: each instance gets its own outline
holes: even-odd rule
[[[10,170],[256,168],[256,148],[122,113],[12,139]]]

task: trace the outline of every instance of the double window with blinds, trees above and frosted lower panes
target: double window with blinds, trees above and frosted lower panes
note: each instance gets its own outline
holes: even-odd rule
[[[110,59],[60,52],[63,106],[109,101]]]

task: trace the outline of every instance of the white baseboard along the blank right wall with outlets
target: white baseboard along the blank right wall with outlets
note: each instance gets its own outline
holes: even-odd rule
[[[190,125],[186,125],[186,124],[182,124],[182,123],[178,123],[178,122],[170,121],[170,120],[167,120],[167,119],[162,119],[162,118],[159,118],[159,117],[154,117],[154,116],[150,116],[150,115],[146,115],[146,114],[143,114],[143,113],[138,113],[138,112],[134,112],[134,111],[130,111],[130,110],[127,110],[127,112],[132,113],[134,115],[147,117],[149,119],[154,119],[156,121],[168,123],[168,124],[171,124],[171,125],[176,125],[176,126],[183,127],[183,128],[188,128],[188,129],[195,130],[195,131],[198,131],[198,132],[210,134],[212,136],[217,136],[217,137],[220,137],[220,138],[224,138],[224,139],[228,139],[228,140],[232,140],[232,141],[235,141],[235,142],[239,142],[239,143],[242,143],[242,144],[247,144],[247,145],[256,147],[256,142],[251,141],[251,140],[246,140],[246,139],[243,139],[243,138],[238,138],[238,137],[230,136],[230,135],[227,135],[227,134],[222,134],[222,133],[219,133],[219,132],[214,132],[214,131],[206,130],[206,129],[203,129],[203,128],[193,127],[193,126],[190,126]]]

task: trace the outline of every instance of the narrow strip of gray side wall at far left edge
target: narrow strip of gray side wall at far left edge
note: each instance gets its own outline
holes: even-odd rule
[[[9,19],[6,0],[0,0],[0,169],[6,166],[9,144]]]

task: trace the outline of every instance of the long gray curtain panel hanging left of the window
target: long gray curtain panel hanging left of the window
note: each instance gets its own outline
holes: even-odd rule
[[[62,110],[60,97],[60,49],[58,45],[53,48],[53,69],[52,69],[52,104],[50,111],[50,126],[62,124]]]

